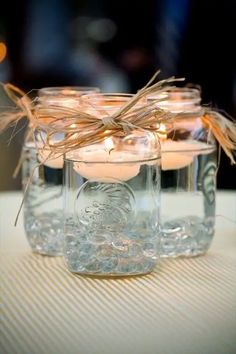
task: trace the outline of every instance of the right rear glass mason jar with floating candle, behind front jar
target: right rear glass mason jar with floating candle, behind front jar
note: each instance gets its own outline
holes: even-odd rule
[[[216,142],[201,117],[200,92],[173,88],[158,105],[179,113],[159,130],[163,257],[197,256],[212,242],[215,225]]]

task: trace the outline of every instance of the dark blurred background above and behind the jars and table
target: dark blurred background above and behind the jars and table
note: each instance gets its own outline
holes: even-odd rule
[[[26,0],[0,13],[0,81],[25,91],[48,86],[140,89],[157,69],[202,87],[203,103],[236,117],[235,0]],[[0,190],[12,173],[23,130],[0,136]],[[218,188],[236,189],[222,154]]]

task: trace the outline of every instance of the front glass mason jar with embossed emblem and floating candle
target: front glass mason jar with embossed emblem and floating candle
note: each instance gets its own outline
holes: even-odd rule
[[[93,100],[101,115],[125,101],[108,94]],[[141,130],[66,154],[64,256],[71,272],[125,276],[154,268],[160,252],[159,166],[157,136]]]

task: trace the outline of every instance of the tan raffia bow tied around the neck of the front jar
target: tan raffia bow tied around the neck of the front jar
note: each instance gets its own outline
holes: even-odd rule
[[[57,154],[66,153],[98,143],[108,136],[126,135],[134,129],[156,131],[161,121],[169,120],[175,115],[158,108],[156,102],[139,104],[140,101],[149,94],[160,93],[170,83],[183,80],[171,77],[151,85],[157,74],[134,97],[111,115],[103,109],[103,117],[101,117],[101,107],[96,108],[94,105],[90,107],[86,97],[84,101],[81,100],[80,109],[62,109],[62,107],[54,106],[51,107],[50,112],[48,108],[39,105],[35,109],[35,116],[39,128],[47,133],[45,146]],[[90,108],[90,111],[92,108],[94,113],[88,113],[86,108]],[[47,119],[46,125],[45,119]],[[65,139],[55,142],[53,137],[58,132],[63,132]]]

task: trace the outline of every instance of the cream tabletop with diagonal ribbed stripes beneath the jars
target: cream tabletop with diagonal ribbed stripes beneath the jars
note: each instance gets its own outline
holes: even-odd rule
[[[22,216],[13,226],[21,198],[0,193],[1,354],[236,353],[235,192],[217,193],[206,255],[110,279],[73,275],[62,257],[33,254]]]

